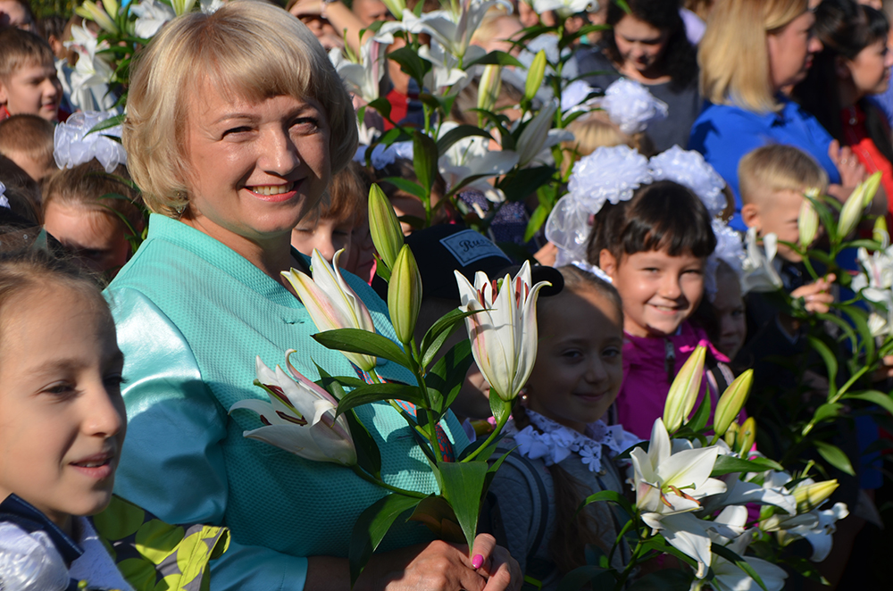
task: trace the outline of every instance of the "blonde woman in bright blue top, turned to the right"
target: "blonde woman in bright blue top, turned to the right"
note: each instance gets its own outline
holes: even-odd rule
[[[841,199],[864,178],[849,148],[840,148],[783,93],[805,79],[822,49],[814,22],[807,0],[725,0],[707,21],[697,54],[705,107],[691,129],[689,148],[704,154],[734,192],[734,229],[746,229],[738,162],[757,147],[787,144],[812,155],[828,173],[829,193]]]

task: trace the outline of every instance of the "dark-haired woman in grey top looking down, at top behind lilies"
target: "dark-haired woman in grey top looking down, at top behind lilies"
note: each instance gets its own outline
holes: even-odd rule
[[[605,90],[621,77],[637,80],[670,107],[670,117],[648,126],[655,151],[686,146],[701,111],[697,90],[697,52],[686,37],[679,3],[628,0],[630,13],[608,4],[600,46],[581,50],[580,72],[590,85]]]

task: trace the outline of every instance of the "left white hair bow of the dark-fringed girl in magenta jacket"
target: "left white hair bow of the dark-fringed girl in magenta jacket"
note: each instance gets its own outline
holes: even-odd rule
[[[652,182],[648,159],[630,146],[598,147],[573,167],[570,193],[546,221],[546,237],[558,247],[555,265],[586,261],[589,218],[605,203],[629,201],[638,187]]]

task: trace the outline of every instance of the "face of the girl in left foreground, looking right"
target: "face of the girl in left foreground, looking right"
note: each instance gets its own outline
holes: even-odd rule
[[[107,309],[51,282],[4,303],[0,499],[11,493],[63,529],[112,496],[126,425],[123,357]]]

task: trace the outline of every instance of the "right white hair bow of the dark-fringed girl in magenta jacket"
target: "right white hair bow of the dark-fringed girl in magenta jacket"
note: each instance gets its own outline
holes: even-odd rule
[[[672,146],[651,159],[651,176],[655,180],[672,180],[683,187],[689,187],[715,218],[726,208],[725,181],[714,171],[714,167],[695,150],[683,150]]]

